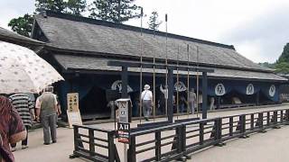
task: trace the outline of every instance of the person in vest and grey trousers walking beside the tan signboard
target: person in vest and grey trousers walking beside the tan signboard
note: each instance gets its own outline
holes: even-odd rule
[[[57,100],[53,92],[53,86],[45,88],[45,92],[36,100],[36,119],[42,122],[44,145],[57,142],[56,115],[58,112]]]

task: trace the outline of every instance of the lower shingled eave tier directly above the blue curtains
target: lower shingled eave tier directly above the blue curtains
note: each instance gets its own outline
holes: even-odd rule
[[[107,66],[107,61],[112,60],[111,58],[96,58],[89,56],[73,56],[73,55],[58,55],[55,54],[54,58],[61,64],[61,66],[66,69],[84,69],[84,70],[107,70],[107,71],[121,71],[121,67],[109,67]],[[114,59],[120,60],[120,59]],[[140,72],[139,68],[130,67],[128,71]],[[143,72],[152,73],[153,69],[143,69]],[[156,69],[155,73],[164,73],[164,70]],[[175,71],[176,72],[176,71]],[[187,75],[187,71],[179,71],[179,74]],[[195,75],[195,73],[191,73]],[[228,68],[214,68],[214,73],[208,73],[208,76],[214,77],[228,77],[228,78],[243,78],[243,79],[259,79],[267,81],[286,81],[282,76],[277,76],[273,73],[262,73],[256,71],[244,71],[237,69]]]

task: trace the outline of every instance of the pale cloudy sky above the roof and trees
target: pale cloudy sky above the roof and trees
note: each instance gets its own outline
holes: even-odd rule
[[[254,62],[274,62],[289,41],[288,0],[136,0],[135,4],[147,14],[144,27],[153,11],[162,21],[168,14],[169,32],[232,44]],[[9,29],[9,20],[34,9],[34,0],[0,0],[0,26]],[[140,26],[140,20],[126,24]],[[164,29],[163,23],[160,31]]]

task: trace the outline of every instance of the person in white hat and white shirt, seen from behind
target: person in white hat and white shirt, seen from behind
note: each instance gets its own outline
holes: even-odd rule
[[[150,91],[150,85],[144,85],[144,91],[141,94],[144,120],[148,121],[153,105],[153,93]]]

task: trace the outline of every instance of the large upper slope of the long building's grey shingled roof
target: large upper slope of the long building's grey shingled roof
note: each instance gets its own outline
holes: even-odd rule
[[[49,46],[57,49],[86,51],[106,56],[121,55],[131,58],[139,57],[143,49],[145,58],[166,58],[165,33],[144,30],[124,24],[107,23],[68,14],[47,13],[47,17],[35,15],[36,22],[47,37]],[[151,33],[148,33],[151,32]],[[168,34],[167,55],[169,59],[179,58],[187,61],[187,44],[190,45],[190,61],[197,61],[197,46],[199,47],[199,63],[208,66],[236,67],[258,71],[271,71],[260,67],[251,60],[241,56],[233,48],[224,44],[197,40],[174,34]]]

